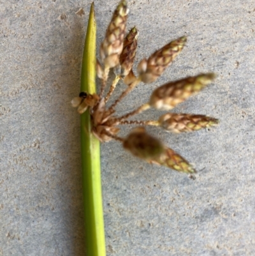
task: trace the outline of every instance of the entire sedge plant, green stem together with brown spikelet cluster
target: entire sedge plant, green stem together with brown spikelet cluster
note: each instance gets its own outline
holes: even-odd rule
[[[127,2],[120,1],[101,43],[100,59],[96,60],[96,23],[92,4],[82,62],[81,93],[71,102],[81,114],[88,256],[105,255],[99,142],[117,140],[124,149],[148,163],[163,165],[179,172],[194,173],[196,170],[186,159],[147,133],[145,126],[159,126],[167,132],[181,133],[197,131],[218,123],[214,117],[173,112],[163,114],[157,120],[130,119],[150,108],[173,109],[177,104],[184,102],[210,84],[215,78],[214,73],[201,73],[194,77],[163,84],[152,92],[148,102],[123,116],[117,115],[115,112],[117,104],[138,84],[150,84],[160,77],[180,54],[187,41],[186,36],[170,41],[148,58],[142,59],[136,72],[133,72],[138,30],[133,27],[126,34],[128,11]],[[110,70],[115,73],[115,78],[110,82],[108,92],[105,93]],[[96,92],[96,74],[101,80],[99,93]],[[119,81],[126,84],[126,89],[112,105],[106,104]],[[126,137],[118,136],[120,127],[126,124],[136,125],[136,127]]]

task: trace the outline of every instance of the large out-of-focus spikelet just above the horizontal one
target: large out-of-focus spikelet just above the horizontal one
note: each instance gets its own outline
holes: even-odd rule
[[[178,103],[201,91],[214,78],[214,73],[208,73],[164,84],[150,96],[150,106],[160,110],[173,109]]]

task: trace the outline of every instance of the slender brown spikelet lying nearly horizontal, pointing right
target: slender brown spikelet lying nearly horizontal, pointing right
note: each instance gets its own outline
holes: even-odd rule
[[[193,114],[168,113],[159,117],[159,124],[169,132],[193,132],[218,123],[213,117]]]

